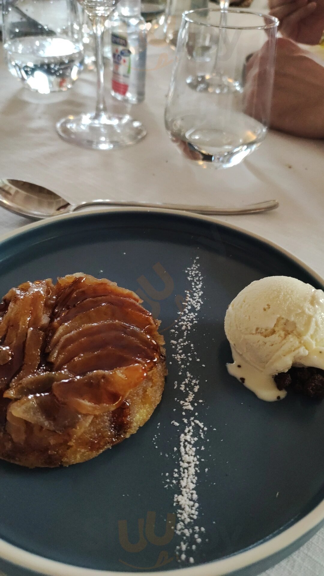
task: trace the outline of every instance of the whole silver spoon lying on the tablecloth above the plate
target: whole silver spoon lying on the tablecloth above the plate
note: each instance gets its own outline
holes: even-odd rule
[[[117,202],[116,200],[91,200],[70,204],[61,196],[43,186],[31,184],[24,180],[0,180],[0,206],[29,218],[42,219],[59,214],[70,214],[76,210],[91,206],[111,206],[139,208],[161,208],[169,210],[185,210],[196,214],[257,214],[274,210],[279,206],[277,200],[267,200],[257,204],[249,204],[242,208],[214,208],[213,206],[189,206],[187,204],[148,204],[144,202]]]

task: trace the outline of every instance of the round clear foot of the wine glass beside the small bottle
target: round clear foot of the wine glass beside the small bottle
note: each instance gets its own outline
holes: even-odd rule
[[[146,135],[139,120],[106,112],[67,116],[56,124],[56,130],[63,140],[93,150],[131,146]]]

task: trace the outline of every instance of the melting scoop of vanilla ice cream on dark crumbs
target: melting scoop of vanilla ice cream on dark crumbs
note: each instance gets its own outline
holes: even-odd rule
[[[324,369],[324,292],[289,276],[252,282],[225,316],[228,372],[262,400],[280,400],[273,376],[294,366]]]

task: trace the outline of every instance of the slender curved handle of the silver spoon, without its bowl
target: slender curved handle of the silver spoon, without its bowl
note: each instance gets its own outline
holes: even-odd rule
[[[234,215],[234,214],[257,214],[267,212],[278,208],[277,200],[266,200],[257,204],[248,204],[242,208],[214,208],[213,206],[190,206],[188,204],[149,204],[144,202],[117,202],[115,200],[91,200],[91,202],[82,202],[74,206],[72,212],[91,206],[108,206],[111,207],[138,207],[138,208],[160,208],[166,210],[184,210],[195,214],[205,215]]]

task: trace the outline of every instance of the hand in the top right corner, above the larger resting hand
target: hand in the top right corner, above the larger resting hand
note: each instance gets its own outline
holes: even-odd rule
[[[280,20],[282,36],[318,44],[324,31],[324,0],[269,0],[270,14]]]

